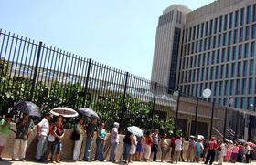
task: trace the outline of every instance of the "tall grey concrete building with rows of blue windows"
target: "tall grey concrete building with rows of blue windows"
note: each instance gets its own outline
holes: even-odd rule
[[[159,17],[151,80],[194,97],[210,88],[209,102],[255,111],[255,42],[255,0],[218,0],[194,11],[172,5]],[[254,117],[228,115],[229,129],[255,133]]]

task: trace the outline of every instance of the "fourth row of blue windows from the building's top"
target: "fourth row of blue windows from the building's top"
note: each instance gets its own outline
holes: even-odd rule
[[[253,74],[254,60],[252,59],[250,61],[234,62],[227,65],[182,71],[180,83],[207,81],[229,77],[247,77],[252,76]]]

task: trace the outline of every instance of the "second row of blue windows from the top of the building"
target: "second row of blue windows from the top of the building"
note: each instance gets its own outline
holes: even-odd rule
[[[250,30],[251,29],[251,30]],[[250,38],[251,36],[251,38]],[[256,24],[183,45],[183,56],[256,39]]]

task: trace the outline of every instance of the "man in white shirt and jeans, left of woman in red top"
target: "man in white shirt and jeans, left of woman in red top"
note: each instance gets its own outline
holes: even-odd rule
[[[49,132],[49,120],[51,119],[51,114],[47,113],[45,118],[42,119],[37,124],[37,138],[38,138],[38,144],[37,144],[37,155],[35,160],[36,161],[43,161],[42,156],[45,153],[45,151],[48,148],[48,132]]]

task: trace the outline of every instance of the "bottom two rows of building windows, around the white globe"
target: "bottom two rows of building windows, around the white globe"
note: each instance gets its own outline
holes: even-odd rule
[[[241,81],[241,82],[240,82]],[[247,84],[248,81],[248,84]],[[241,87],[240,87],[241,85]],[[248,88],[247,88],[248,85]],[[230,81],[220,81],[215,83],[201,83],[197,85],[186,85],[180,86],[181,92],[189,93],[190,95],[202,97],[202,92],[205,88],[210,88],[212,90],[212,98],[209,98],[209,101],[214,101],[220,105],[228,105],[227,98],[214,98],[218,96],[229,96],[229,95],[251,95],[253,90],[253,79],[238,79],[236,80],[236,85],[234,80]],[[235,90],[236,89],[236,90]],[[241,90],[240,90],[241,89]],[[248,91],[248,92],[247,92]],[[256,92],[255,92],[256,93]],[[233,107],[236,108],[247,108],[250,109],[250,104],[252,104],[252,97],[247,98],[247,103],[245,97],[235,97],[235,102]],[[255,100],[256,101],[256,100]]]

